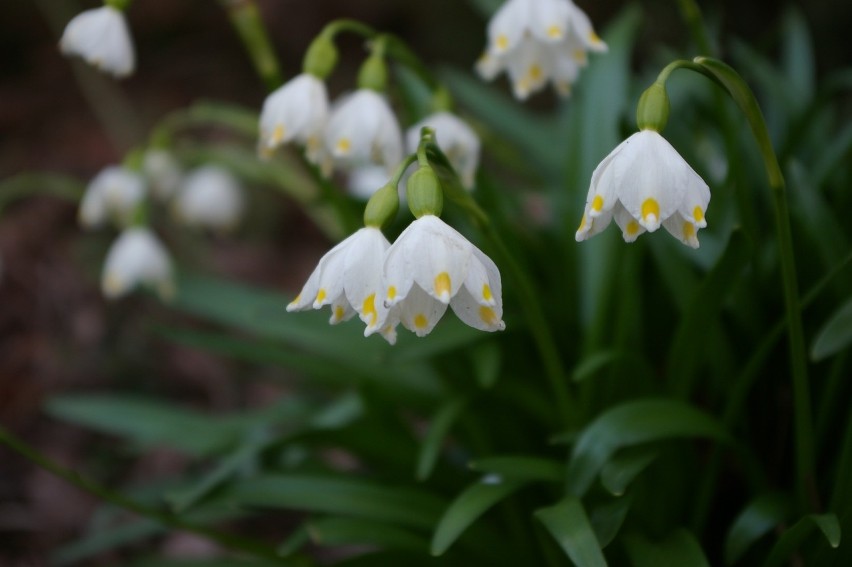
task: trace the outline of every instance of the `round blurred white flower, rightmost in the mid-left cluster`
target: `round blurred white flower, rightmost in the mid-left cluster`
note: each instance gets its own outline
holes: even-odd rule
[[[243,208],[240,184],[218,165],[190,171],[172,201],[172,213],[181,222],[215,230],[235,228]]]

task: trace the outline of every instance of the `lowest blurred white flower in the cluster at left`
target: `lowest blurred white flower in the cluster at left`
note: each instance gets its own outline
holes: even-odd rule
[[[101,289],[107,298],[115,299],[139,284],[153,287],[162,299],[174,294],[168,252],[151,230],[132,227],[122,232],[110,247]]]

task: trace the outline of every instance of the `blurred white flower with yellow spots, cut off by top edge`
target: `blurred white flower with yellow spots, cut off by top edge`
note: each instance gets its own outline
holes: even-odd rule
[[[567,96],[587,52],[606,51],[588,16],[571,0],[508,0],[488,24],[488,46],[477,62],[479,74],[509,74],[521,100],[551,81]]]

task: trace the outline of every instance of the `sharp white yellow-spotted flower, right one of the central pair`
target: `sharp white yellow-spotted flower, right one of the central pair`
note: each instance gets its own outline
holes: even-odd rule
[[[471,327],[506,328],[497,266],[434,215],[420,217],[399,235],[386,254],[384,277],[388,321],[398,318],[418,336],[435,327],[448,304]]]

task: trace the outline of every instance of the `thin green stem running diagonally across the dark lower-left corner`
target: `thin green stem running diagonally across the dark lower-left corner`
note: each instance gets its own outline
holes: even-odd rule
[[[199,526],[187,522],[186,520],[171,513],[137,502],[119,492],[115,492],[92,480],[84,478],[78,472],[66,468],[47,458],[39,453],[35,448],[28,445],[24,440],[18,438],[2,427],[0,427],[0,443],[6,445],[12,451],[18,453],[22,457],[25,457],[42,469],[58,476],[84,492],[97,496],[101,500],[114,504],[120,508],[124,508],[125,510],[130,510],[131,512],[159,522],[170,528],[200,535],[228,549],[241,551],[254,557],[268,559],[277,563],[283,563],[283,558],[275,551],[275,549],[267,546],[263,542],[221,532],[206,526]]]

